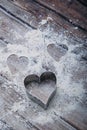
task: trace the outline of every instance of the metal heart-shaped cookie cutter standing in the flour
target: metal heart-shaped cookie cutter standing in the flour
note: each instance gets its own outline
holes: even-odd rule
[[[52,72],[44,72],[40,77],[29,75],[24,80],[26,92],[30,99],[47,109],[56,92],[56,76]]]

